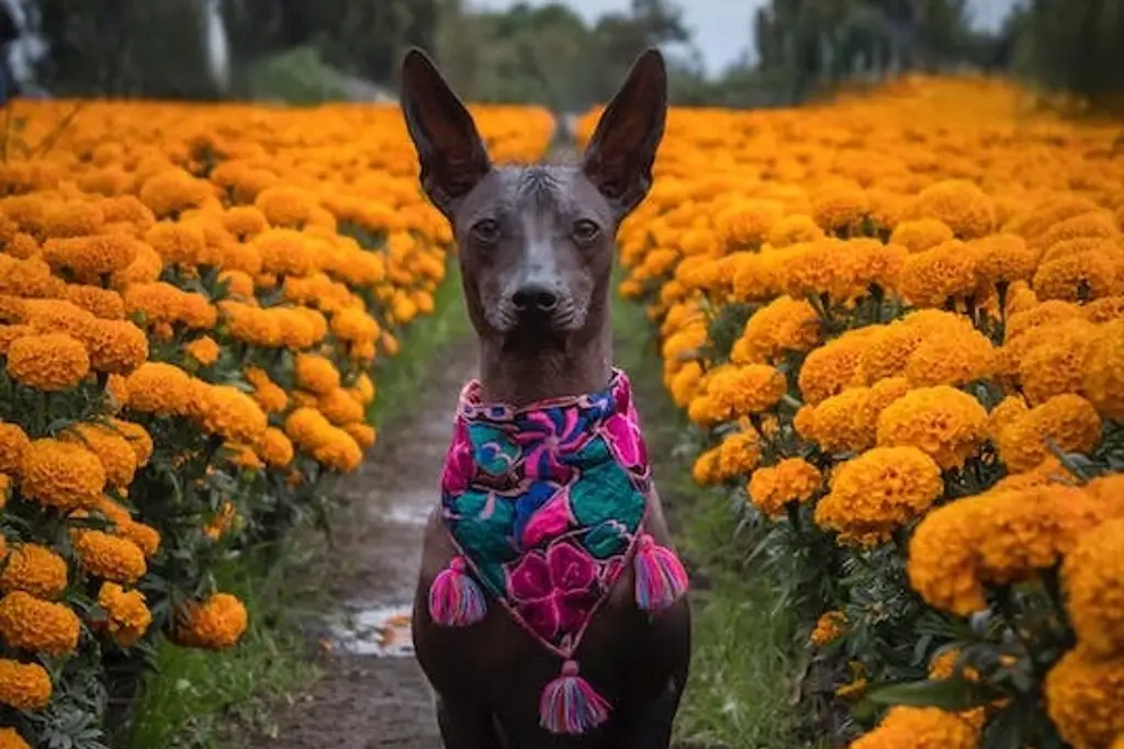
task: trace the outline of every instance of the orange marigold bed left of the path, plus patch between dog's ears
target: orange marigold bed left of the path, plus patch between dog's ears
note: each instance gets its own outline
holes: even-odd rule
[[[76,117],[72,115],[76,111]],[[542,113],[484,110],[533,158]],[[447,225],[392,109],[19,104],[0,166],[0,747],[101,746],[106,664],[235,645],[215,565],[323,521]],[[549,125],[549,118],[545,124]],[[116,672],[115,672],[116,673]],[[135,686],[135,685],[132,685]]]

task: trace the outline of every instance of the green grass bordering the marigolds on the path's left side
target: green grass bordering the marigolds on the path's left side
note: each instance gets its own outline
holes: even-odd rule
[[[436,292],[436,311],[401,336],[401,351],[375,376],[378,398],[369,417],[384,424],[404,413],[422,372],[438,351],[464,336],[468,318],[460,277],[450,273]],[[307,692],[318,673],[309,658],[301,622],[328,605],[319,584],[332,574],[324,539],[297,533],[280,563],[232,560],[217,570],[220,590],[239,596],[250,627],[233,650],[207,652],[161,643],[156,670],[145,679],[125,740],[129,749],[228,749],[232,729],[275,733],[277,705]]]

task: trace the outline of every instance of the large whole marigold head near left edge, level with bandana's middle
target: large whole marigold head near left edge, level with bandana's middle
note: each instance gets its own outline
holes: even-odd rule
[[[93,508],[106,487],[106,469],[81,445],[37,439],[24,453],[20,493],[62,511]]]

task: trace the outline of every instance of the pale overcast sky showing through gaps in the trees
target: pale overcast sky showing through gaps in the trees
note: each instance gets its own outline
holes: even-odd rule
[[[528,0],[533,6],[550,0]],[[471,0],[478,8],[508,8],[516,0]],[[753,13],[769,0],[681,0],[687,25],[695,31],[695,40],[703,52],[707,71],[718,73],[735,62],[749,47]],[[626,10],[629,0],[565,0],[583,17],[592,20],[604,12]],[[972,20],[978,26],[996,28],[1006,17],[1015,0],[968,0]]]

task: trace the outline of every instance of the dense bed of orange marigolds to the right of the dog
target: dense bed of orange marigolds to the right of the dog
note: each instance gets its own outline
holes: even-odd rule
[[[1124,131],[1017,99],[673,111],[622,232],[854,747],[1124,746]]]

